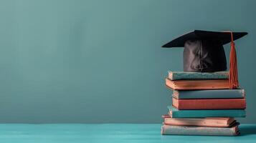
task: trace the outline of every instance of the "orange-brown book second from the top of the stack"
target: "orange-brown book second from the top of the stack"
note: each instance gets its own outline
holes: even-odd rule
[[[166,78],[166,87],[174,90],[229,89],[229,79],[172,81]]]

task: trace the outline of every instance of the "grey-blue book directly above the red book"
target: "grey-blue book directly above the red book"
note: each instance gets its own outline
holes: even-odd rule
[[[176,99],[229,99],[245,98],[245,89],[219,89],[219,90],[174,90]]]

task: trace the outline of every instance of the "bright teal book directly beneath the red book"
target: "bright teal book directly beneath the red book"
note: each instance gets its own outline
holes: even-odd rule
[[[204,117],[245,117],[245,109],[186,109],[179,110],[169,106],[172,118],[204,118]]]

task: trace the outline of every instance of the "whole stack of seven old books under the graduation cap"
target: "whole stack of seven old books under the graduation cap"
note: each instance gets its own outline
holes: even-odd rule
[[[234,117],[245,117],[245,90],[229,89],[229,72],[172,72],[166,87],[173,90],[161,134],[240,134]]]

